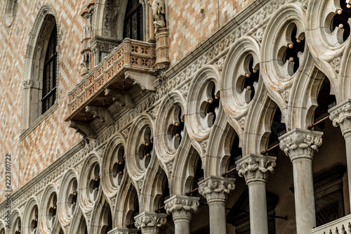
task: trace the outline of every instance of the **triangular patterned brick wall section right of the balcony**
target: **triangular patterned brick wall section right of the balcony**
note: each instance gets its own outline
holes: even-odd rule
[[[171,65],[176,65],[253,0],[168,0]],[[204,13],[199,9],[204,8]]]

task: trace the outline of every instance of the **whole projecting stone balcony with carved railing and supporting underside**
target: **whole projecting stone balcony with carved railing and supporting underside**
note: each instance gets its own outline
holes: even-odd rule
[[[105,121],[111,122],[112,118],[106,117],[109,114],[102,110],[107,110],[116,100],[122,106],[133,108],[128,89],[139,85],[144,91],[154,91],[155,62],[155,44],[124,39],[69,91],[69,115],[65,121],[88,124],[99,117],[97,112],[103,112]]]

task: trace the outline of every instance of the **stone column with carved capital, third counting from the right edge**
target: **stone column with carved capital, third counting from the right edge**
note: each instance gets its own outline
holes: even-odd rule
[[[247,155],[237,162],[239,176],[249,187],[250,233],[268,234],[266,183],[274,172],[276,157]]]

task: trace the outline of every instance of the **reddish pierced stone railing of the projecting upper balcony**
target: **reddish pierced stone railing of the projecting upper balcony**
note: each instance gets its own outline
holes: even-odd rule
[[[107,108],[113,103],[105,96],[105,89],[128,91],[135,84],[126,79],[126,72],[155,75],[153,65],[155,45],[145,41],[124,39],[124,41],[105,57],[89,74],[69,91],[69,115],[66,121],[90,121],[85,107],[93,105]],[[138,83],[138,82],[137,82]]]

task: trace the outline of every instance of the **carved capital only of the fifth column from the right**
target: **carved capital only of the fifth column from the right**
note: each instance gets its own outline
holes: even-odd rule
[[[197,212],[199,199],[199,197],[174,195],[164,202],[164,209],[166,209],[167,214],[173,214],[173,221],[177,219],[187,219],[190,221],[192,213]]]

